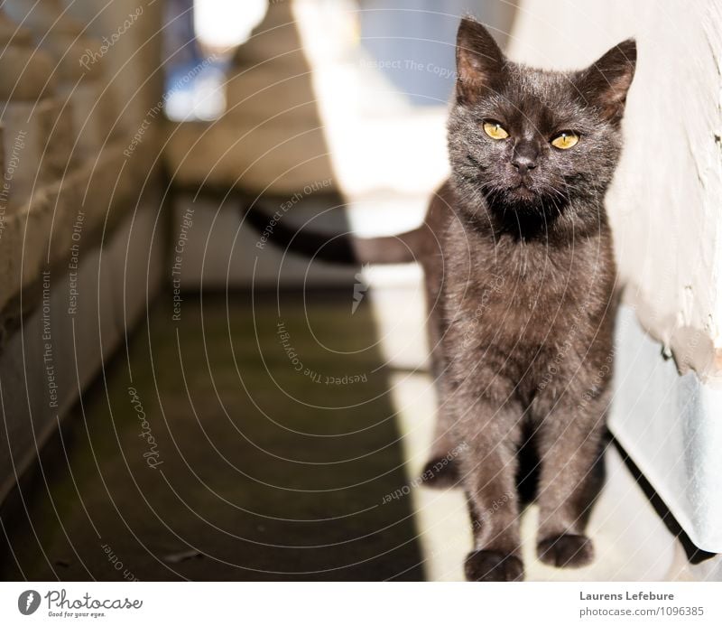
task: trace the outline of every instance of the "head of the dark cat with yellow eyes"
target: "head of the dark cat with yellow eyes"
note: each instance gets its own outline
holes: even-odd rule
[[[635,61],[627,40],[585,70],[533,70],[506,60],[484,26],[463,19],[449,117],[458,195],[517,216],[559,215],[575,199],[601,205]]]

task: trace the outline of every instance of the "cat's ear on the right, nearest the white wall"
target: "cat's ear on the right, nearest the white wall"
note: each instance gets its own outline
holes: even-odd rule
[[[634,79],[636,61],[637,44],[634,39],[627,39],[579,72],[576,80],[579,93],[612,122],[618,122],[625,112],[626,93]]]

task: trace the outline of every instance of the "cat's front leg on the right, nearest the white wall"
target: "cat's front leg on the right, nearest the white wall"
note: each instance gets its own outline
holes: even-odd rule
[[[540,472],[537,556],[548,565],[581,567],[594,559],[585,534],[604,481],[603,436],[608,393],[568,392],[543,418],[538,433]]]

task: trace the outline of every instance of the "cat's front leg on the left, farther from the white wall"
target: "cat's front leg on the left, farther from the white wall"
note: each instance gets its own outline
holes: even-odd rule
[[[465,574],[470,581],[522,580],[515,483],[521,411],[478,400],[467,403],[466,411],[458,420],[464,434],[460,470],[475,549],[467,556]]]

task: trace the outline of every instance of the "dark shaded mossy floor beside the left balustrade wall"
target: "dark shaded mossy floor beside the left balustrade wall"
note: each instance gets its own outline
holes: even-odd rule
[[[173,321],[163,294],[3,509],[0,576],[421,579],[410,499],[383,503],[407,478],[351,295],[213,296]]]

